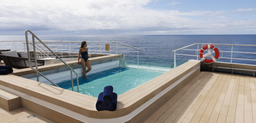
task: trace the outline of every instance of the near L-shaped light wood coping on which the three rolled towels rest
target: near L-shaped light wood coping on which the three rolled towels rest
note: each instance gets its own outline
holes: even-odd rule
[[[98,112],[95,108],[96,97],[25,79],[12,74],[0,76],[0,85],[15,89],[24,94],[45,100],[49,103],[67,108],[88,117],[115,118],[131,113],[199,66],[200,61],[190,60],[177,68],[163,73],[162,75],[119,95],[117,99],[117,110],[113,112]]]

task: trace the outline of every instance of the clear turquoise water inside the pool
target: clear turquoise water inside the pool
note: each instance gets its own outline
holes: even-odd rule
[[[79,77],[79,93],[98,97],[105,86],[113,86],[113,92],[120,95],[163,73],[133,68],[113,68],[88,75],[89,79]],[[77,91],[76,79],[73,79],[74,91]],[[61,88],[72,90],[71,80],[57,84]]]

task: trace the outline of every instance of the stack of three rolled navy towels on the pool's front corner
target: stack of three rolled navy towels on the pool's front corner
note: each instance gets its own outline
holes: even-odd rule
[[[103,111],[104,109],[115,111],[117,109],[117,94],[113,93],[112,86],[104,87],[104,91],[99,94],[96,109],[98,111]]]

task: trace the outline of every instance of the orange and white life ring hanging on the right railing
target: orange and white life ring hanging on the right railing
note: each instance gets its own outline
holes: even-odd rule
[[[204,54],[204,51],[208,49],[208,53]],[[210,49],[213,49],[214,52],[215,52],[215,56],[213,56],[211,53],[210,53]],[[212,62],[215,62],[218,58],[219,58],[219,50],[217,49],[217,47],[213,46],[213,45],[205,45],[204,47],[202,47],[202,49],[200,50],[200,53],[199,53],[199,56],[200,56],[200,59],[206,63],[212,63]],[[206,57],[210,56],[212,59],[206,59]]]

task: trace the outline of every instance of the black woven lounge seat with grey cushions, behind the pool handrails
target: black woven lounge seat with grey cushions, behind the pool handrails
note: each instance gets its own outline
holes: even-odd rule
[[[31,65],[32,67],[35,67],[35,59],[33,59],[35,57],[34,52],[30,52],[30,55],[31,55],[31,59],[30,59]],[[5,62],[5,65],[11,66],[12,68],[16,68],[16,69],[29,68],[27,58],[7,56],[7,55],[1,55],[1,54],[0,54],[0,57],[3,59],[3,62]],[[37,66],[44,65],[44,60],[36,60],[36,61],[37,61]]]

